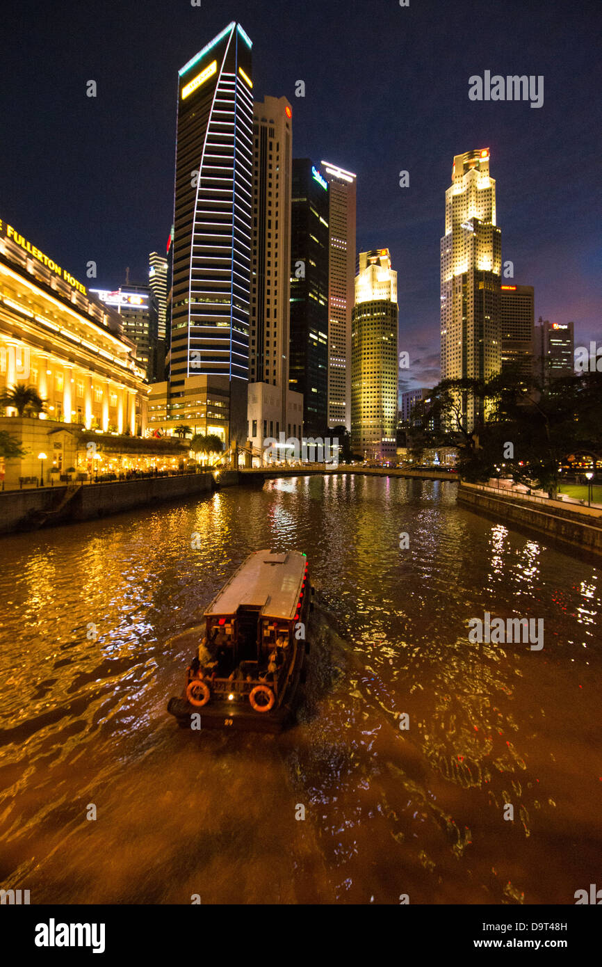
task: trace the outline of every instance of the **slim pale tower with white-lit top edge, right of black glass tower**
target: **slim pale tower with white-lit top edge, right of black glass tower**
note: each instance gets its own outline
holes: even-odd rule
[[[328,425],[351,429],[351,321],[356,279],[356,175],[322,161],[330,187]]]

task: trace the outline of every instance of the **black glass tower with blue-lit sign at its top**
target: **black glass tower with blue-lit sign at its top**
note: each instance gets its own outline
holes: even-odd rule
[[[327,425],[329,185],[307,158],[293,160],[289,386],[303,395],[305,432]]]

